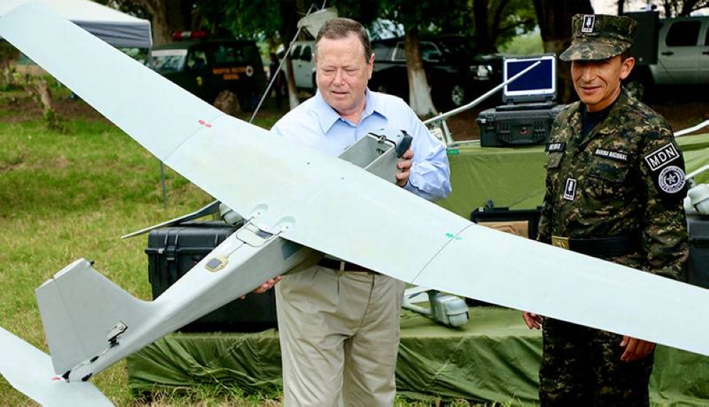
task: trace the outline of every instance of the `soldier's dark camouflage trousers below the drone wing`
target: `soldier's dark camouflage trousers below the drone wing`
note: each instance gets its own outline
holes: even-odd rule
[[[647,407],[653,355],[623,362],[623,336],[545,318],[542,407]]]

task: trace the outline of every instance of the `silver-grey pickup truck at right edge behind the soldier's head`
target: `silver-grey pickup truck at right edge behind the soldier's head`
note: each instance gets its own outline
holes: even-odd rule
[[[637,13],[633,14],[630,17],[635,18]],[[659,28],[648,27],[654,24],[645,19],[636,20],[640,22],[636,44],[642,47],[642,42],[657,38],[653,50],[657,60],[635,55],[635,69],[625,81],[627,91],[647,100],[658,85],[709,84],[709,16],[666,18],[659,20]]]

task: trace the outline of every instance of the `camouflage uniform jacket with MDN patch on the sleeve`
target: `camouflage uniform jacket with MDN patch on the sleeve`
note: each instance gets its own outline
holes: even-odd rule
[[[606,260],[678,278],[688,258],[684,161],[663,117],[622,92],[586,137],[581,105],[557,116],[547,144],[538,239],[638,236]]]

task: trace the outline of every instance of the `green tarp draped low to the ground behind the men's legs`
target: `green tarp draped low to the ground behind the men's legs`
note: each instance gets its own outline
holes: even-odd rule
[[[406,310],[402,316],[399,393],[536,404],[542,338],[527,329],[519,311],[471,307],[463,328],[445,328]],[[128,357],[128,382],[137,392],[195,385],[279,391],[280,355],[275,330],[174,333]],[[659,346],[651,392],[654,406],[708,406],[709,357]]]

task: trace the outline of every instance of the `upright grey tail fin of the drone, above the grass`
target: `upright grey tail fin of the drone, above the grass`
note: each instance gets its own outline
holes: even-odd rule
[[[65,378],[77,365],[116,345],[128,326],[145,321],[151,305],[96,272],[85,259],[67,265],[35,294],[55,372]]]

